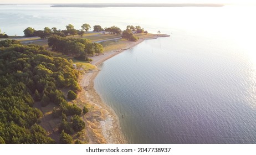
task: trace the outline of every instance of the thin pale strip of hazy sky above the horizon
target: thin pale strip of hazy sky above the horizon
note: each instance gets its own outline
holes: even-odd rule
[[[25,3],[255,3],[253,0],[0,0],[0,4]]]

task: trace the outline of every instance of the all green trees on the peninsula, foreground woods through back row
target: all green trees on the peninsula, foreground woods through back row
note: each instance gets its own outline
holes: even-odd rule
[[[93,28],[132,41],[138,39],[134,33],[147,34],[140,26],[132,25],[124,31],[115,26]],[[85,128],[80,116],[88,108],[82,110],[69,102],[81,91],[79,70],[74,69],[72,60],[56,57],[53,51],[90,61],[87,56],[103,53],[101,44],[82,38],[90,29],[89,24],[83,24],[80,30],[69,24],[65,30],[24,30],[25,37],[48,39],[52,51],[39,45],[22,45],[17,40],[0,41],[0,143],[83,143],[75,137]],[[51,119],[59,122],[54,138],[40,125],[45,116],[39,109],[44,107],[48,107]]]

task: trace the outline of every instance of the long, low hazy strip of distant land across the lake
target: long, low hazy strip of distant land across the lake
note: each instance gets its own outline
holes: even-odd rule
[[[142,4],[142,3],[90,3],[90,4],[53,4],[51,7],[79,7],[79,8],[106,8],[106,7],[223,7],[224,4]]]

